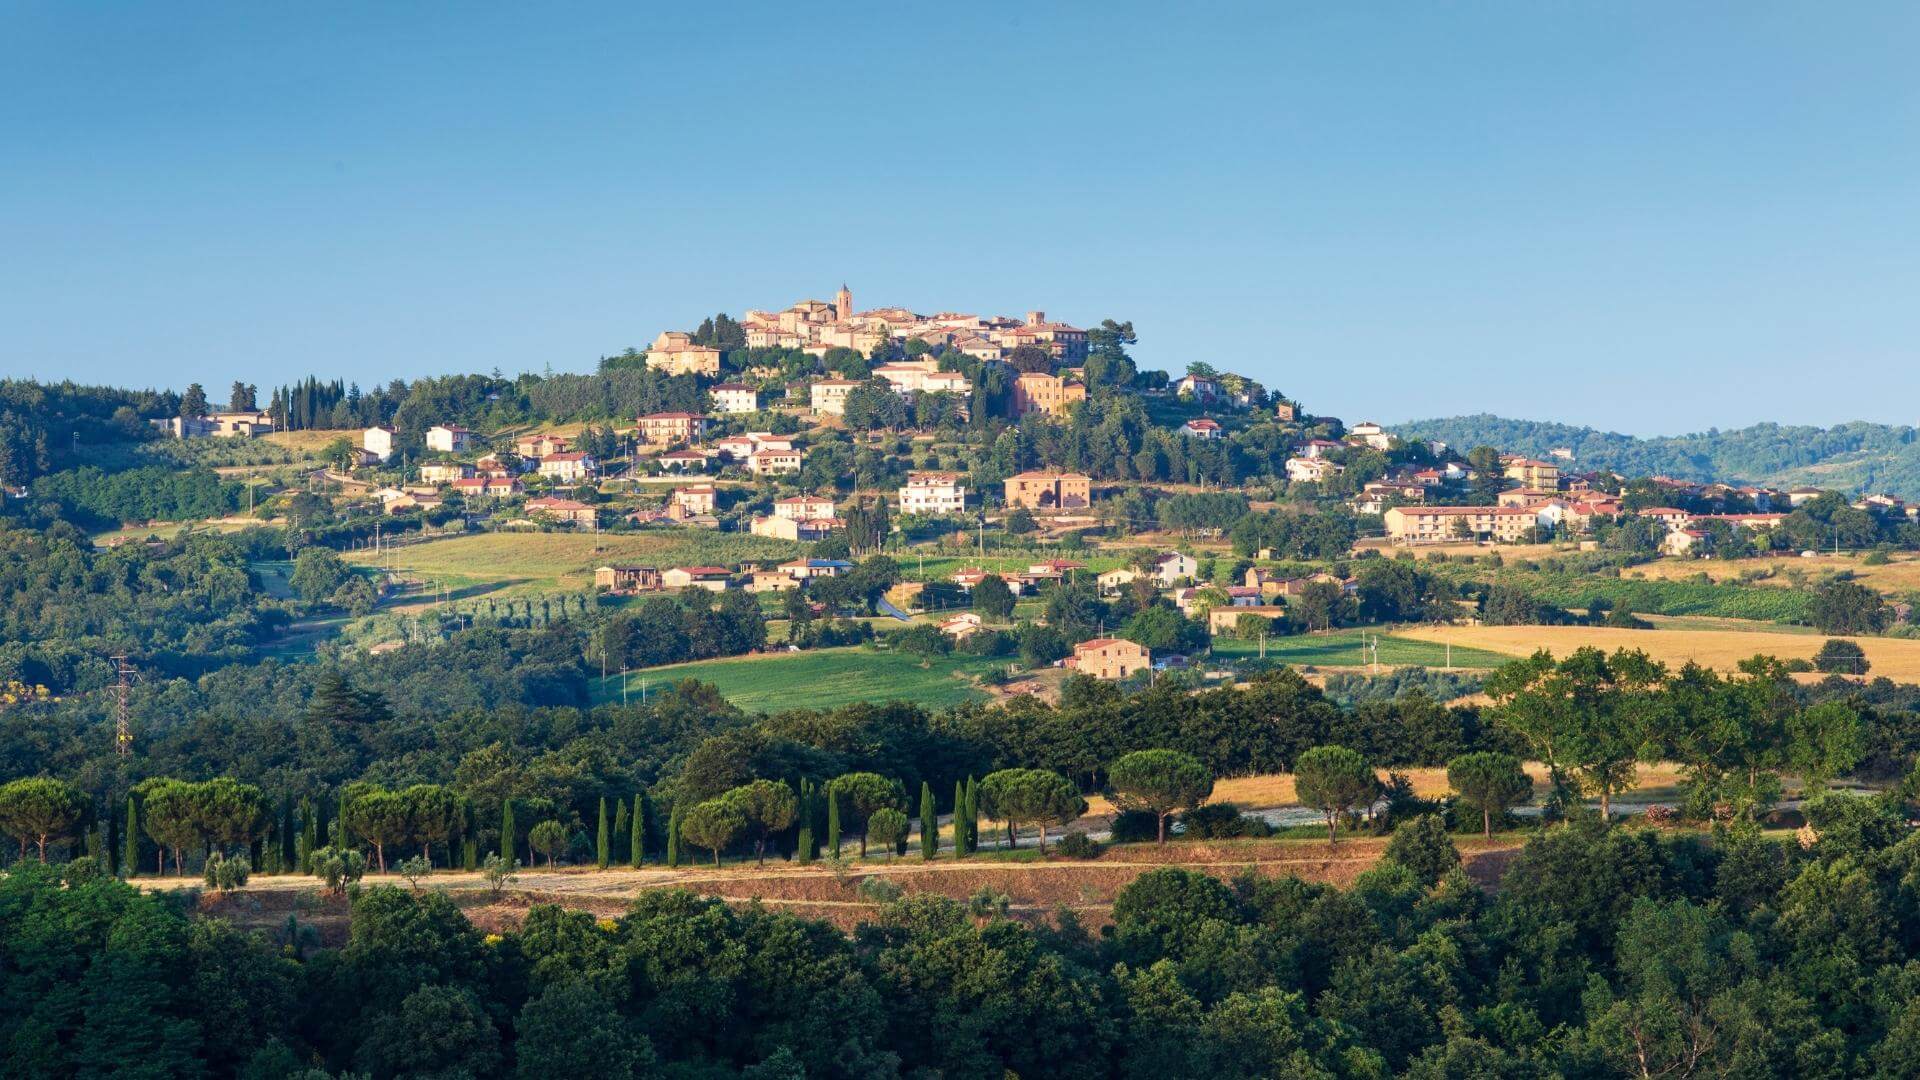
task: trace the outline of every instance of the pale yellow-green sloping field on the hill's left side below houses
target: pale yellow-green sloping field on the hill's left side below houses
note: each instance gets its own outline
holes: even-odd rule
[[[766,536],[718,534],[705,528],[659,532],[474,532],[419,544],[399,544],[390,555],[348,552],[349,563],[388,561],[394,569],[453,586],[492,584],[534,590],[580,590],[593,584],[593,567],[649,563],[657,567],[728,565],[741,559],[791,559],[799,544]]]

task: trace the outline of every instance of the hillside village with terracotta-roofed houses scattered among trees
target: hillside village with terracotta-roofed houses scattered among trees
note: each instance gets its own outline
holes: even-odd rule
[[[1048,669],[1231,678],[1283,638],[1344,626],[1661,615],[1645,588],[1555,600],[1580,590],[1567,573],[1619,580],[1649,561],[1920,538],[1916,507],[1891,496],[1622,477],[1565,448],[1409,440],[1210,363],[1140,371],[1133,342],[1129,323],[1081,329],[1039,309],[862,311],[841,286],[831,302],[664,331],[593,377],[369,394],[309,380],[267,407],[236,384],[228,409],[182,407],[150,427],[182,446],[303,440],[317,465],[298,492],[250,492],[253,515],[284,519],[298,496],[324,517],[348,563],[380,571],[363,615],[403,603],[440,548],[497,538],[538,552],[566,534],[599,538],[607,557],[557,584],[607,611],[751,598],[739,611],[760,626],[735,646],[641,651],[622,669],[866,644],[1000,657],[979,671],[1014,688]],[[541,407],[563,388],[641,407]],[[342,419],[369,423],[338,430]],[[647,557],[676,550],[705,557]],[[1546,559],[1523,565],[1553,588],[1509,588],[1503,552]],[[501,619],[509,594],[476,584],[449,611]],[[1882,600],[1874,619],[1903,625],[1910,600]]]

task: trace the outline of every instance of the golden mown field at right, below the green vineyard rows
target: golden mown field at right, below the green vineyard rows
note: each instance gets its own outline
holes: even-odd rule
[[[1780,659],[1812,659],[1826,642],[1820,634],[1768,634],[1764,630],[1620,630],[1613,626],[1411,626],[1400,630],[1405,638],[1453,642],[1513,657],[1548,650],[1567,655],[1582,646],[1603,651],[1642,650],[1649,657],[1684,665],[1695,661],[1716,671],[1734,671],[1753,655]],[[1905,638],[1847,638],[1866,650],[1872,663],[1868,675],[1885,675],[1897,682],[1920,682],[1920,640]]]

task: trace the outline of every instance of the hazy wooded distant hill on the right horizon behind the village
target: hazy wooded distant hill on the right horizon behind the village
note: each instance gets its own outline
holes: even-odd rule
[[[1912,427],[1864,421],[1824,429],[1768,423],[1740,430],[1638,438],[1590,427],[1482,413],[1411,421],[1394,427],[1394,434],[1438,438],[1461,454],[1475,446],[1498,446],[1542,457],[1555,448],[1567,448],[1574,454],[1574,467],[1613,469],[1628,477],[1816,484],[1920,500],[1920,429]]]

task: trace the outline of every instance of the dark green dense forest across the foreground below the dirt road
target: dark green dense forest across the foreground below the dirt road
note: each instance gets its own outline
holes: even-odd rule
[[[0,880],[0,1040],[33,1076],[1912,1076],[1920,836],[1893,798],[1805,847],[1578,821],[1496,894],[1415,819],[1350,890],[1158,869],[1112,926],[900,897],[847,936],[660,890],[482,934],[357,888],[313,949],[96,869]]]

